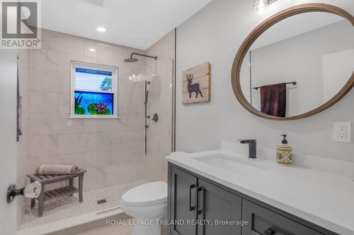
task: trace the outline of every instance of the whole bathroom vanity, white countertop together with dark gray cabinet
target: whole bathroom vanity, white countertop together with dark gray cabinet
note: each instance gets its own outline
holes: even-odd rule
[[[229,149],[167,157],[169,234],[354,234],[352,178],[262,157]]]

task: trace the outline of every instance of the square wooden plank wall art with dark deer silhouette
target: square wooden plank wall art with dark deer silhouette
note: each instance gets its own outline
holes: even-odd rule
[[[210,102],[210,63],[183,71],[182,104]]]

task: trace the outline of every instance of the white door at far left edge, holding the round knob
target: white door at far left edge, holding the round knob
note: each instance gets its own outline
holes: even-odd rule
[[[6,191],[16,183],[16,71],[15,49],[0,49],[0,234],[16,234],[16,202],[6,202]]]

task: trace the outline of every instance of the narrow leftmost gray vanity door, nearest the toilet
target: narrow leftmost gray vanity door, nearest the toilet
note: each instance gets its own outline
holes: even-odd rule
[[[173,235],[195,235],[196,227],[187,224],[187,221],[195,220],[197,217],[195,189],[198,179],[176,167],[171,167],[170,177],[169,205],[171,213],[169,221],[175,223],[169,227],[169,233]]]

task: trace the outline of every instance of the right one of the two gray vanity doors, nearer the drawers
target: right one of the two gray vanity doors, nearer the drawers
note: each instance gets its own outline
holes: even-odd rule
[[[239,235],[241,226],[242,199],[198,179],[198,235]],[[220,224],[228,222],[228,224]]]

